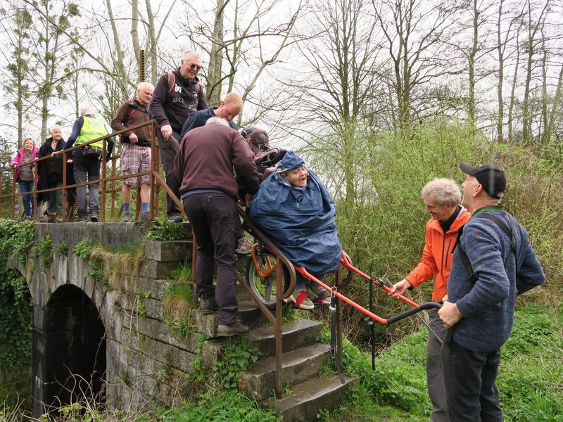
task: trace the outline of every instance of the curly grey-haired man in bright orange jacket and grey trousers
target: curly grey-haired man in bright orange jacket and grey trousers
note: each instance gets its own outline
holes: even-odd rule
[[[390,294],[405,293],[407,289],[415,288],[434,277],[432,300],[437,302],[448,293],[448,276],[457,231],[469,220],[471,214],[460,205],[460,187],[450,179],[429,181],[422,188],[422,199],[426,205],[426,212],[431,215],[431,219],[426,223],[422,260],[405,279],[393,286]],[[446,330],[436,309],[429,311],[429,326],[440,338],[445,337]],[[431,421],[446,422],[449,418],[440,359],[441,343],[434,333],[429,331],[426,347],[426,379],[432,402]]]

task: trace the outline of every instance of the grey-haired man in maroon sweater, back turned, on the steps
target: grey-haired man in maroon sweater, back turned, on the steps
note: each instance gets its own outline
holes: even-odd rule
[[[236,321],[234,229],[239,188],[233,167],[248,192],[248,204],[259,185],[254,154],[241,134],[219,117],[212,117],[205,126],[191,129],[184,136],[174,167],[176,177],[182,180],[184,210],[198,241],[196,286],[200,308],[210,314],[218,305],[220,336],[248,333],[248,327]],[[215,264],[217,287],[213,286]]]

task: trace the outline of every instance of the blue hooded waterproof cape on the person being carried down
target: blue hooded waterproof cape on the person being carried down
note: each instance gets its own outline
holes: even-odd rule
[[[292,186],[281,171],[301,167],[303,160],[288,151],[278,171],[260,184],[250,217],[284,255],[314,274],[336,271],[342,247],[336,234],[336,208],[327,188],[308,170],[307,186]]]

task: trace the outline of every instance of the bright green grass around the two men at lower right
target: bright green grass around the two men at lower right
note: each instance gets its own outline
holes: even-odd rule
[[[563,421],[563,307],[526,305],[502,347],[497,385],[505,421]],[[327,333],[322,339],[327,340]],[[342,406],[321,421],[428,421],[426,331],[388,347],[371,369],[369,354],[345,341],[345,371],[358,376]]]

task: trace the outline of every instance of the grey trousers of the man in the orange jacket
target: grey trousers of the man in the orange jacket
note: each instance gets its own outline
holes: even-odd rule
[[[436,309],[428,312],[429,325],[434,333],[443,340],[446,329],[443,321],[438,316]],[[426,346],[426,381],[428,383],[428,395],[432,402],[432,422],[449,422],[448,405],[445,399],[444,373],[440,351],[442,343],[428,331],[428,345]]]

